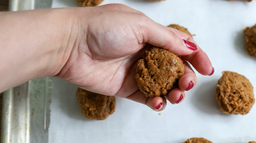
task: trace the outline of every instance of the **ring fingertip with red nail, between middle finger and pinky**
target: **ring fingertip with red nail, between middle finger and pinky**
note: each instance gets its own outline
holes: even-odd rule
[[[171,90],[168,94],[169,102],[172,104],[181,103],[185,98],[185,92],[181,91],[180,88]]]

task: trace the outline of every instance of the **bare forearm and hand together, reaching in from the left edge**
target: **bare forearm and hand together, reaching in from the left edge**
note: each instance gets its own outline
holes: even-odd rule
[[[185,46],[187,34],[122,4],[0,12],[0,92],[28,80],[54,76],[104,95],[146,104],[155,111],[175,104],[189,82],[213,68],[208,56]],[[152,28],[154,27],[154,28]],[[146,97],[135,80],[137,61],[149,44],[180,56],[185,73],[166,97]],[[184,98],[183,98],[184,99]],[[162,106],[159,109],[159,104]]]

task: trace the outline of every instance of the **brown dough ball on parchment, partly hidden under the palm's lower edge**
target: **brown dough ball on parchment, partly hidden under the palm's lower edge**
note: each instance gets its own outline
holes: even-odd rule
[[[115,112],[115,96],[106,96],[78,88],[76,99],[81,107],[81,112],[88,119],[104,120]]]

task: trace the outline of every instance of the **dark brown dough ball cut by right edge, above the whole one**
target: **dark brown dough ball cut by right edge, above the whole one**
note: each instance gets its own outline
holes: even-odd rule
[[[256,24],[243,29],[245,34],[245,49],[250,56],[256,56]]]

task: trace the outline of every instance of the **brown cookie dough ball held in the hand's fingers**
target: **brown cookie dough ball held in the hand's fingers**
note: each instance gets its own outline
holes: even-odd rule
[[[184,74],[181,59],[170,51],[152,47],[136,68],[139,89],[148,96],[164,96],[171,89],[179,87],[178,82]]]

